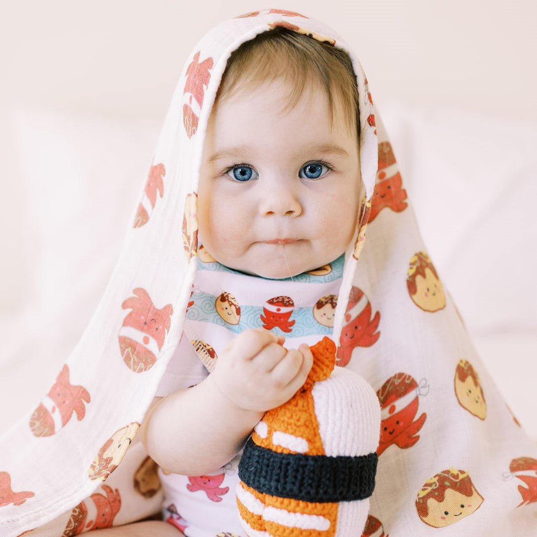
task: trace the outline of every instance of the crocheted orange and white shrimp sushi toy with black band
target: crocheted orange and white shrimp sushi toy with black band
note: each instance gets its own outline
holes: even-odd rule
[[[380,404],[336,344],[310,347],[313,366],[287,403],[265,412],[244,445],[236,498],[249,537],[359,537],[375,487]]]

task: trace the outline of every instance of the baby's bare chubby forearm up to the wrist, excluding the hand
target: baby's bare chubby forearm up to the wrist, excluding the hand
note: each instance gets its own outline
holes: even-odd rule
[[[206,475],[241,450],[264,412],[238,408],[213,384],[213,375],[174,391],[150,407],[140,427],[148,455],[174,474]]]

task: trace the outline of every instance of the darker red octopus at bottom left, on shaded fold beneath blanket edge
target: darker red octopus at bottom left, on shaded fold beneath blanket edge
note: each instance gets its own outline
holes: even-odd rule
[[[106,496],[95,492],[72,510],[62,537],[74,537],[82,532],[112,527],[114,517],[121,508],[121,496],[118,489],[112,490],[108,485],[101,485],[101,488]]]

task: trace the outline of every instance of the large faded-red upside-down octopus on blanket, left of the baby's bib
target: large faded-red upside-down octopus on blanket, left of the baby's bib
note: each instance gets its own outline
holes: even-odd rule
[[[130,296],[121,304],[123,309],[132,309],[125,317],[119,330],[119,347],[123,361],[135,373],[148,371],[157,361],[170,330],[173,308],[167,304],[157,309],[146,289],[134,289],[136,296]]]

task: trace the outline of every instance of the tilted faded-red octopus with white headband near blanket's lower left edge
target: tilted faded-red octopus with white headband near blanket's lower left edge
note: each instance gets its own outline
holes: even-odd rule
[[[71,419],[73,412],[80,421],[86,415],[84,401],[90,402],[88,390],[69,382],[69,367],[64,364],[56,382],[30,417],[32,433],[37,437],[56,434]]]

